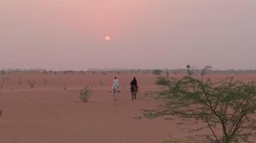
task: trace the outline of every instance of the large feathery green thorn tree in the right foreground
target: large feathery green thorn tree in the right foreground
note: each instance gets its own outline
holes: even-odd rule
[[[204,77],[206,66],[201,71]],[[256,82],[236,81],[232,77],[212,82],[211,79],[196,79],[191,75],[181,79],[157,79],[161,92],[157,98],[165,104],[159,109],[145,109],[143,114],[148,118],[174,115],[182,118],[196,119],[205,126],[193,131],[209,129],[212,134],[206,136],[210,142],[249,142],[255,135]],[[168,81],[168,82],[167,82]]]

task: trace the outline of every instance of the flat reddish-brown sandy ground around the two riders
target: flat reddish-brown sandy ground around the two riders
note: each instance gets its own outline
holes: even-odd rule
[[[111,101],[110,93],[114,76],[122,85],[117,102]],[[133,74],[0,75],[0,86],[4,84],[0,89],[0,142],[159,143],[167,138],[182,140],[189,136],[177,125],[179,119],[134,119],[142,114],[141,109],[154,109],[159,104],[142,99],[145,92],[157,90],[156,76],[135,76],[140,86],[137,101],[131,101],[129,94]],[[209,77],[216,80],[228,76]],[[255,74],[233,76],[256,81]],[[37,82],[34,88],[29,87],[28,80]],[[78,91],[86,85],[93,87],[93,95],[88,102],[81,102]]]

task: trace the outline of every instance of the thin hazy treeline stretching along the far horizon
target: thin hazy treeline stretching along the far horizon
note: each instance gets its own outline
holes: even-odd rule
[[[194,74],[200,74],[201,69],[192,69]],[[90,70],[45,70],[45,69],[2,69],[0,74],[35,73],[35,74],[186,74],[186,69],[90,69]],[[209,70],[208,74],[256,74],[256,70]]]

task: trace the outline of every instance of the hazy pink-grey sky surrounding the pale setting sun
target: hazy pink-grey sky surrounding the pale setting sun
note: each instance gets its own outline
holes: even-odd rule
[[[0,0],[0,49],[0,69],[256,69],[256,1]]]

